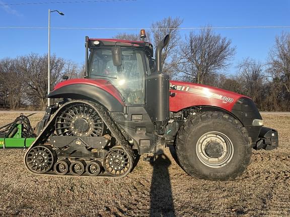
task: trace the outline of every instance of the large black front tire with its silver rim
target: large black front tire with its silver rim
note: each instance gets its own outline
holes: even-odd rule
[[[180,128],[176,153],[180,165],[192,177],[231,180],[250,163],[251,138],[241,123],[229,115],[200,113]]]

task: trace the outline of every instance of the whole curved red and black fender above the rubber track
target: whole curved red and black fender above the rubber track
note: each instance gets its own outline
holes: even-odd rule
[[[103,104],[109,112],[123,112],[124,102],[117,89],[103,79],[71,79],[58,83],[49,98],[87,99]]]

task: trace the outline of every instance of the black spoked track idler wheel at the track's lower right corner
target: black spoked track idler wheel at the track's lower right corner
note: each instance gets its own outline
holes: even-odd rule
[[[103,166],[114,177],[124,177],[132,169],[132,157],[122,148],[111,149],[104,157]]]

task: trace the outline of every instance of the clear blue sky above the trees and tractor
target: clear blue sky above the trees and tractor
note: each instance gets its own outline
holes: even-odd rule
[[[61,0],[65,2],[66,0]],[[68,1],[68,0],[67,0]],[[72,0],[70,0],[72,1]],[[83,0],[86,1],[86,0]],[[57,0],[0,0],[0,4],[60,2]],[[181,27],[290,26],[290,1],[166,1],[136,0],[76,4],[43,4],[0,6],[0,27],[47,27],[48,9],[59,10],[65,16],[51,14],[51,27],[76,28],[150,28],[153,22],[166,17],[183,19]],[[182,37],[190,30],[181,30]],[[232,40],[237,53],[228,73],[244,58],[265,61],[275,36],[285,29],[223,29],[214,30]],[[111,38],[120,30],[60,30],[51,29],[51,53],[84,62],[85,36]],[[124,31],[138,33],[138,31]],[[31,52],[47,53],[47,29],[0,28],[0,59]]]

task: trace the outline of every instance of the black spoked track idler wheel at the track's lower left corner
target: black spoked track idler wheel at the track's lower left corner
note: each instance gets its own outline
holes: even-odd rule
[[[35,146],[29,150],[25,162],[28,169],[34,173],[48,172],[56,159],[56,153],[49,145]]]

